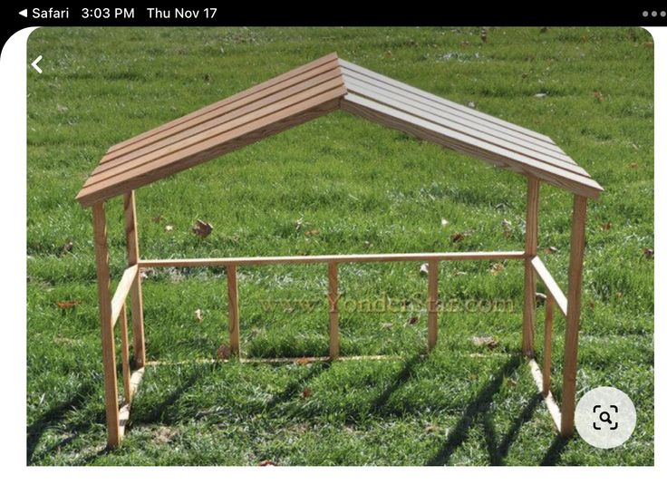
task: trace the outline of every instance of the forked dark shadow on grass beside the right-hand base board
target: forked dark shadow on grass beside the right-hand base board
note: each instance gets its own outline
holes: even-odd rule
[[[503,365],[500,371],[494,376],[490,383],[488,383],[480,392],[478,392],[477,397],[472,402],[469,402],[465,412],[463,412],[463,416],[459,419],[456,426],[454,427],[454,430],[449,433],[447,441],[445,441],[445,444],[440,448],[440,450],[426,462],[427,465],[446,465],[454,451],[457,450],[457,448],[459,448],[459,446],[468,439],[470,427],[472,427],[473,423],[475,423],[479,417],[482,417],[483,424],[485,424],[488,450],[489,455],[491,456],[491,461],[497,461],[498,463],[496,464],[500,464],[504,456],[507,455],[507,450],[509,450],[510,444],[516,439],[518,430],[520,429],[521,425],[527,421],[530,416],[532,416],[532,413],[535,411],[536,407],[536,403],[531,404],[532,401],[529,402],[527,410],[522,412],[519,417],[517,417],[517,421],[512,424],[510,431],[507,433],[507,437],[501,441],[500,446],[496,445],[497,441],[495,437],[495,429],[493,428],[490,417],[488,416],[488,409],[491,406],[491,402],[493,402],[493,396],[500,389],[500,386],[503,383],[503,379],[505,376],[517,370],[517,367],[521,363],[521,359],[522,357],[518,355],[514,355],[512,358],[510,358],[507,363]]]

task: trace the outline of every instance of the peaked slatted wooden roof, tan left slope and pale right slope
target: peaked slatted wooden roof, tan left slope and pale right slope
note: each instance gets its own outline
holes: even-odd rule
[[[603,190],[546,135],[330,53],[112,146],[77,199],[91,206],[339,109],[575,194]]]

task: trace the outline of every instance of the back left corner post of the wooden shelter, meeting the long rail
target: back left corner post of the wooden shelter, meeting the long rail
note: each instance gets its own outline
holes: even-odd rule
[[[137,235],[137,208],[134,190],[123,196],[125,214],[125,238],[127,241],[128,266],[139,262],[139,237]],[[134,363],[138,369],[146,362],[146,344],[143,336],[143,298],[141,296],[141,274],[138,272],[130,288],[132,308],[132,336],[134,338]]]

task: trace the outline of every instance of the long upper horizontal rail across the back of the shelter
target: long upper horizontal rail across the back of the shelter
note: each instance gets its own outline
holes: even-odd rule
[[[523,251],[422,252],[411,254],[342,254],[333,256],[218,257],[200,259],[142,259],[140,267],[254,266],[266,264],[376,263],[401,261],[481,261],[523,259]],[[115,296],[114,296],[115,298]]]

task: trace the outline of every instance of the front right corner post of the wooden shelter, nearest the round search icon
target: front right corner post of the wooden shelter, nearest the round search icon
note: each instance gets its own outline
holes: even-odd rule
[[[576,350],[581,315],[581,285],[584,274],[586,198],[575,196],[570,238],[570,267],[567,277],[567,315],[565,316],[565,366],[563,368],[563,404],[561,434],[570,437],[575,424]]]

